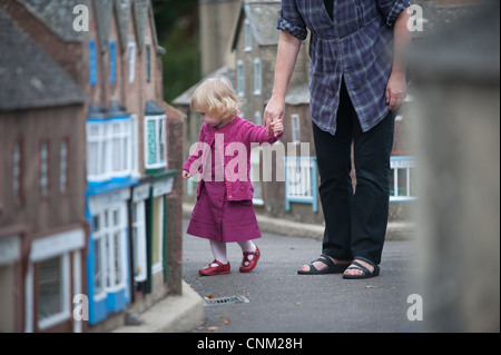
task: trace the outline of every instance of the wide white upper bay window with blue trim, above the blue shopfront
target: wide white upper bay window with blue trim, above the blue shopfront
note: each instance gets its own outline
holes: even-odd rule
[[[87,122],[87,178],[89,181],[106,181],[131,174],[132,129],[130,117]]]

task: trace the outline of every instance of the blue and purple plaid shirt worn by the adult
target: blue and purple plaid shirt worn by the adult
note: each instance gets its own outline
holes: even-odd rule
[[[304,40],[310,30],[310,106],[313,121],[335,134],[342,79],[363,131],[389,112],[393,23],[410,0],[282,0],[276,28]]]

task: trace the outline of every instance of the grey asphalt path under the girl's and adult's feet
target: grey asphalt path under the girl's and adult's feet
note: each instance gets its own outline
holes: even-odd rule
[[[186,231],[185,219],[184,230]],[[377,277],[351,280],[341,275],[298,275],[318,257],[322,243],[301,236],[264,233],[256,240],[258,266],[242,274],[242,252],[228,244],[232,273],[199,276],[213,260],[208,240],[184,234],[184,279],[202,297],[244,296],[248,303],[205,306],[206,323],[197,333],[413,333],[407,297],[419,293],[411,268],[412,240],[389,240]]]

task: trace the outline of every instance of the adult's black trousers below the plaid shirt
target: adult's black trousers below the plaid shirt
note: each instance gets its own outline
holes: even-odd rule
[[[342,260],[380,264],[390,199],[390,155],[395,112],[362,131],[344,82],[341,87],[335,135],[313,124],[325,218],[323,252]],[[354,151],[356,186],[350,171]]]

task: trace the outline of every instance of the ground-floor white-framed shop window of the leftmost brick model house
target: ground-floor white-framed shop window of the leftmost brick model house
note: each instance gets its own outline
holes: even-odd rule
[[[38,265],[38,322],[43,329],[69,316],[69,256],[59,255]]]

